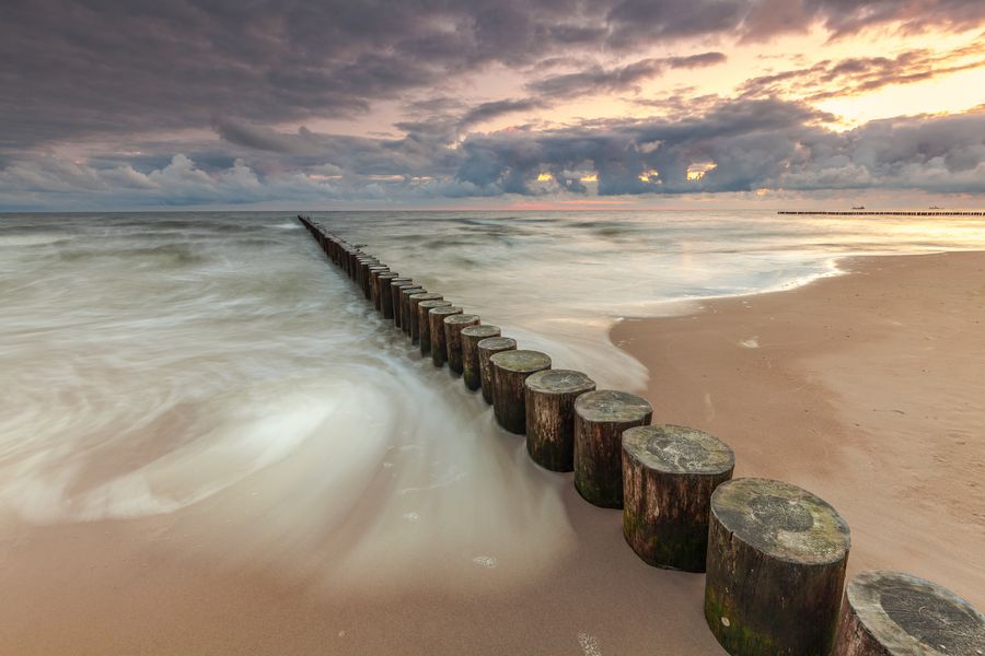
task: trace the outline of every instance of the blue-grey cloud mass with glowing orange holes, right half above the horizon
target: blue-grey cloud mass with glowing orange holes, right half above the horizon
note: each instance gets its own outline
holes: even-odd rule
[[[723,102],[702,117],[610,121],[546,132],[470,137],[456,177],[502,194],[588,192],[566,172],[598,178],[598,194],[676,195],[908,188],[985,192],[985,112],[873,121],[849,132],[801,103]],[[969,138],[970,134],[974,137]]]

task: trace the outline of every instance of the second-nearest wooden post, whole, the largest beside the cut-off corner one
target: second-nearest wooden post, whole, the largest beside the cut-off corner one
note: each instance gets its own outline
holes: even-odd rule
[[[737,656],[826,656],[834,646],[848,525],[796,485],[735,479],[711,494],[705,621]]]

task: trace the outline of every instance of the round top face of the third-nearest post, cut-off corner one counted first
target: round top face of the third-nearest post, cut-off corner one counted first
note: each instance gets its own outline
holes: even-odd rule
[[[665,473],[720,476],[735,467],[729,446],[703,431],[662,424],[623,432],[623,448],[633,459]]]

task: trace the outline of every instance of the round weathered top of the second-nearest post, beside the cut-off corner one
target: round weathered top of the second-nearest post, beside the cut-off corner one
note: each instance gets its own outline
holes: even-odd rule
[[[711,514],[734,537],[767,555],[800,564],[846,557],[848,525],[826,501],[783,481],[741,478],[711,494]]]

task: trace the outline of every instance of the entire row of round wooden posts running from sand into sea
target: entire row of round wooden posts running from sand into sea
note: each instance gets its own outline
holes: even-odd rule
[[[546,353],[519,349],[500,328],[299,219],[422,358],[448,364],[482,390],[500,426],[526,435],[537,465],[573,471],[586,501],[622,508],[623,534],[644,561],[706,572],[705,619],[729,653],[874,656],[922,654],[899,645],[926,644],[938,651],[926,653],[985,654],[982,616],[936,584],[876,572],[846,590],[848,526],[823,500],[781,481],[732,480],[734,455],[720,440],[650,425],[646,399],[552,368]],[[932,618],[919,611],[928,600]]]

